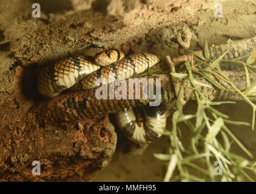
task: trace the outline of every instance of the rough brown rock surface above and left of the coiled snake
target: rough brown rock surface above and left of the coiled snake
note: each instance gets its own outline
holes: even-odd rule
[[[41,18],[32,17],[33,1],[0,2],[2,181],[89,181],[115,152],[116,133],[108,116],[66,125],[37,122],[30,110],[45,100],[36,87],[45,65],[109,47],[126,55],[177,56],[171,40],[185,25],[192,32],[192,49],[201,49],[205,39],[211,45],[256,35],[253,0],[220,1],[223,18],[214,17],[214,0],[37,2]],[[253,149],[255,138],[244,134],[241,139]],[[42,164],[41,176],[32,176],[35,160]]]

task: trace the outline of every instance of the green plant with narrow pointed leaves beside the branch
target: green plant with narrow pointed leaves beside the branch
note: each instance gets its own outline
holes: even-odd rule
[[[192,51],[191,51],[192,52]],[[167,130],[164,135],[170,138],[169,153],[155,153],[155,157],[168,162],[166,176],[164,181],[256,181],[256,162],[252,161],[252,154],[238,140],[238,138],[228,129],[227,124],[234,125],[250,125],[248,122],[231,121],[229,116],[219,112],[214,108],[214,105],[226,103],[235,103],[232,101],[212,102],[198,90],[196,85],[204,87],[212,87],[200,82],[200,79],[195,78],[193,73],[201,75],[201,78],[207,79],[212,85],[221,90],[239,93],[244,101],[251,105],[253,110],[252,115],[252,130],[254,130],[255,110],[256,105],[248,97],[255,96],[256,81],[252,84],[249,79],[249,72],[254,73],[255,69],[251,64],[255,61],[256,51],[252,51],[244,56],[235,59],[223,59],[224,53],[216,60],[209,59],[209,50],[207,42],[204,48],[204,56],[192,52],[197,59],[192,59],[190,62],[184,62],[177,70],[182,70],[182,73],[170,73],[171,76],[181,78],[181,85],[177,99],[175,101],[175,112],[172,115],[172,128]],[[241,59],[249,56],[246,62]],[[237,89],[235,85],[227,79],[221,68],[220,62],[234,62],[238,65],[243,65],[246,73],[246,82],[249,87],[243,90]],[[200,69],[200,65],[207,65],[207,69]],[[178,71],[177,71],[178,72]],[[220,80],[225,81],[231,87],[227,88],[221,82],[211,79],[208,75],[212,73]],[[190,89],[193,90],[195,101],[197,102],[197,112],[192,115],[185,115],[183,107],[186,102],[183,102],[181,97],[183,91],[187,87],[185,80],[189,79]],[[181,141],[181,123],[185,124],[192,132],[189,142],[189,147],[184,149]],[[218,138],[217,138],[217,135]],[[235,142],[248,156],[250,160],[243,156],[231,152],[232,143]],[[198,148],[198,144],[203,145]],[[222,176],[215,176],[214,162],[221,162]],[[174,173],[176,170],[177,173]],[[193,173],[194,172],[194,173]],[[195,173],[197,172],[197,173]],[[199,174],[198,174],[199,173]],[[195,175],[197,174],[197,175]],[[176,176],[174,176],[176,175]]]

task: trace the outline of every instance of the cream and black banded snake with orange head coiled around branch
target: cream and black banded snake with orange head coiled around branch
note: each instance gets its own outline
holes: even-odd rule
[[[97,80],[100,78],[105,79],[106,84],[120,78],[128,79],[145,72],[159,61],[158,56],[150,53],[135,53],[125,57],[118,49],[107,49],[94,57],[70,56],[42,69],[38,76],[38,89],[47,98],[56,97],[67,89],[90,90],[99,86]],[[118,127],[127,138],[138,144],[155,141],[166,129],[163,105],[146,105],[143,110],[146,119],[143,125],[136,122],[132,108],[124,108],[116,113]]]

